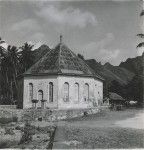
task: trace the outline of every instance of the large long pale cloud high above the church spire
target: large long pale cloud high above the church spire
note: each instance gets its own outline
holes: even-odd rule
[[[94,14],[72,7],[60,9],[50,5],[43,7],[40,11],[36,12],[36,14],[48,22],[58,25],[68,25],[70,27],[84,28],[87,24],[91,24],[92,26],[97,24]]]

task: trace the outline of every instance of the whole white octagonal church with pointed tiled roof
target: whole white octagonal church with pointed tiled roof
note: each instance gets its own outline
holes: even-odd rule
[[[103,100],[103,78],[62,41],[24,74],[21,108],[84,109]]]

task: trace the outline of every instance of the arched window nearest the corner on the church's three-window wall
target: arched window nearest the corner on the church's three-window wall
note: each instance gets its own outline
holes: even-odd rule
[[[63,100],[65,102],[69,101],[69,84],[67,82],[65,82],[63,86]]]

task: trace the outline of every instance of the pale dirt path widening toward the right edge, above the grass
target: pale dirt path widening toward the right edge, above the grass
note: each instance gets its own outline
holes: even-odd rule
[[[72,121],[59,121],[58,126],[73,126],[73,127],[123,127],[144,129],[144,111],[137,111],[136,113],[127,111],[107,112],[105,116],[88,116]]]

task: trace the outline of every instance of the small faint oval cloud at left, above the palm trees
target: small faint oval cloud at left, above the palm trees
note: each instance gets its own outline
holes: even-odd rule
[[[12,31],[36,31],[39,30],[40,26],[38,25],[37,21],[34,19],[25,19],[20,22],[16,22],[12,25]]]

